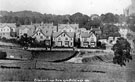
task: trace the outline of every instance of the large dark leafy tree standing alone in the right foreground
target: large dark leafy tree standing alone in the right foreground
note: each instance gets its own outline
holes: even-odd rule
[[[130,43],[126,39],[118,38],[116,44],[113,45],[112,50],[114,51],[114,64],[125,66],[125,62],[132,60]]]

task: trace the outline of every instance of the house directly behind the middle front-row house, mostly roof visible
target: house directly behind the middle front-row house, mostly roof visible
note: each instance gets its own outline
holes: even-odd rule
[[[58,32],[78,32],[79,24],[58,24]]]

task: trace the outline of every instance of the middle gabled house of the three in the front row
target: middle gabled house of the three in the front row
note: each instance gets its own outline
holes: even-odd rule
[[[54,47],[74,47],[74,32],[54,32]]]

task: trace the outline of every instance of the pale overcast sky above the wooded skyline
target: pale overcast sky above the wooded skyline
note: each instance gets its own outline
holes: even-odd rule
[[[0,10],[32,10],[47,14],[121,14],[130,0],[0,0]]]

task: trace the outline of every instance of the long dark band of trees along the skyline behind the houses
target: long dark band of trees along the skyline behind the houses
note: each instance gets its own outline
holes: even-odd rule
[[[72,15],[41,14],[32,11],[8,12],[0,11],[1,23],[17,23],[17,25],[29,25],[32,23],[54,23],[54,25],[66,23],[79,23],[79,27],[89,29],[90,26],[100,26],[101,23],[120,23],[124,20],[123,15],[113,13],[101,14],[98,19],[91,20],[91,16],[77,12]]]

